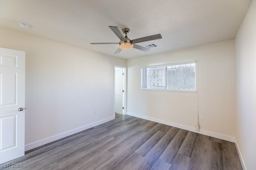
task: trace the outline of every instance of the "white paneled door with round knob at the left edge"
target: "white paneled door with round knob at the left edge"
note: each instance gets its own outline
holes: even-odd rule
[[[24,107],[25,52],[0,48],[0,164],[24,156]]]

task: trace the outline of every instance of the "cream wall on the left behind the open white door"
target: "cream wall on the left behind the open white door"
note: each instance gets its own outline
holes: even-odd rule
[[[26,150],[113,118],[114,64],[126,60],[3,28],[0,37],[26,52]]]

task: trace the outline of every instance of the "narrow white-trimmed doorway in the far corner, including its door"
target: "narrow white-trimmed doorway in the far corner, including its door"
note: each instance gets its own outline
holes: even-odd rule
[[[126,115],[126,67],[114,66],[114,113]]]

